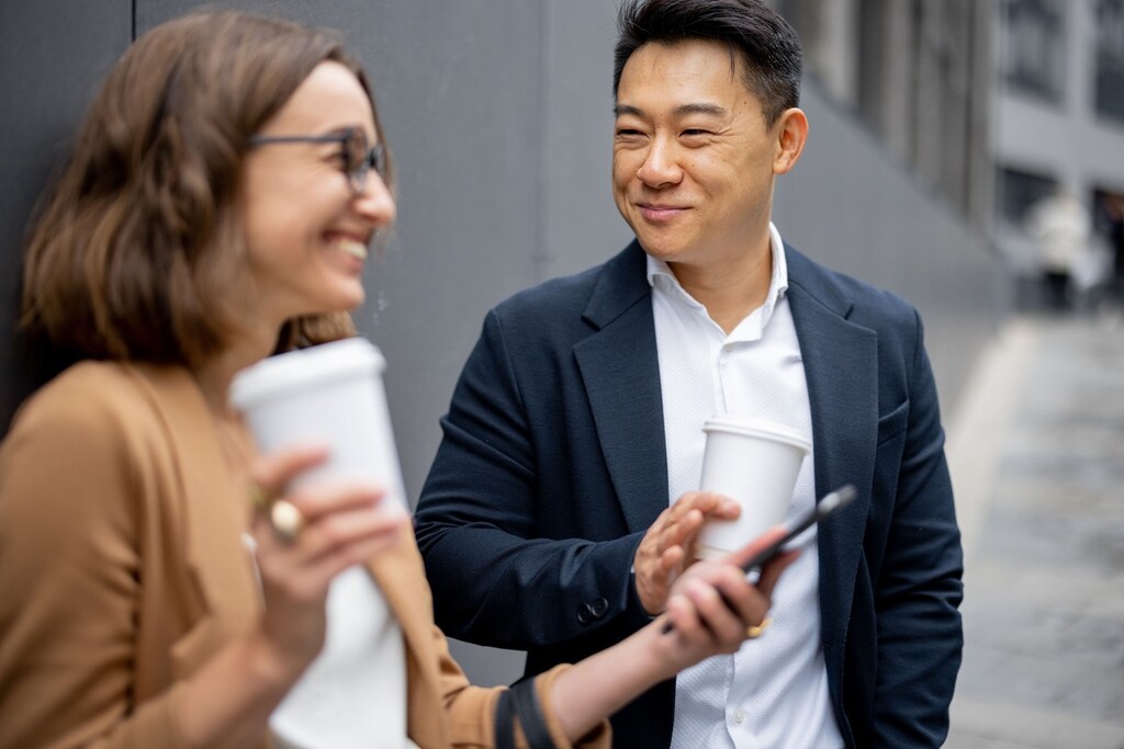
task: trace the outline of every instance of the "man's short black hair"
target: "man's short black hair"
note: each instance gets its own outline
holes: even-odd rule
[[[745,63],[745,86],[761,101],[765,122],[800,102],[800,38],[760,0],[625,0],[617,15],[613,97],[625,63],[650,42],[714,39]]]

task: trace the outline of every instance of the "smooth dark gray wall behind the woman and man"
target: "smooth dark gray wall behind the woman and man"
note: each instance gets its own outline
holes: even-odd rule
[[[0,432],[30,378],[11,345],[20,237],[93,86],[128,44],[190,3],[0,3]],[[344,30],[371,72],[400,172],[399,223],[369,271],[360,328],[387,386],[416,499],[455,377],[489,307],[600,262],[628,238],[609,193],[614,0],[245,0]],[[995,320],[978,237],[918,189],[814,83],[812,140],[778,194],[786,238],[926,316],[946,405]],[[479,683],[522,657],[454,643]]]

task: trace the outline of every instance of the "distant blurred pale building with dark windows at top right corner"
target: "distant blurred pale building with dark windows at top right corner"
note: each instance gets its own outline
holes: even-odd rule
[[[1016,274],[1035,273],[1033,208],[1067,193],[1095,228],[1086,273],[1107,272],[1108,203],[1124,197],[1124,0],[990,4],[998,246]]]

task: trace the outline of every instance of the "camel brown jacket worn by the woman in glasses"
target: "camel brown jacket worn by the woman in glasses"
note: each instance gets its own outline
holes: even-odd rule
[[[173,366],[78,364],[17,414],[0,446],[0,748],[189,747],[184,682],[261,605],[216,429]],[[502,687],[470,686],[450,656],[408,528],[370,568],[406,641],[410,739],[492,746]],[[542,698],[558,673],[537,688],[564,747]],[[588,737],[609,740],[607,722]]]

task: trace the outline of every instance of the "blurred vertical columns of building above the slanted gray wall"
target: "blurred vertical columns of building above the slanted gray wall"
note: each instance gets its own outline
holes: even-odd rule
[[[774,0],[806,70],[973,227],[991,219],[995,18],[978,0]]]

